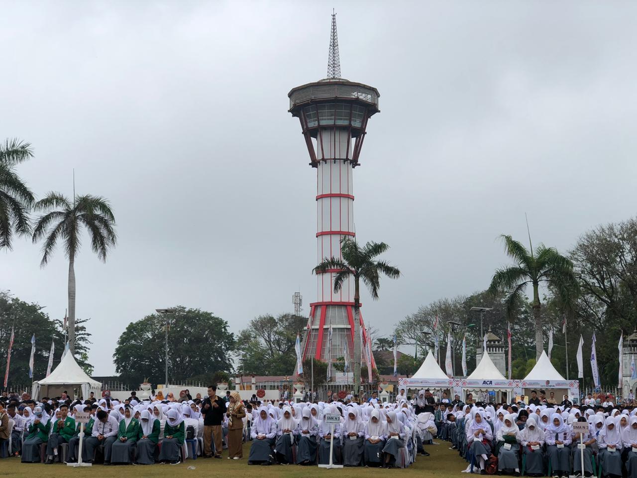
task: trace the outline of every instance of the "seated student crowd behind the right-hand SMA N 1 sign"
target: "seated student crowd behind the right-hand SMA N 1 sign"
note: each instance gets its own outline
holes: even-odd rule
[[[438,437],[467,472],[553,478],[637,478],[637,408],[613,405],[436,405]],[[573,423],[586,423],[585,432]],[[584,453],[583,470],[580,453]]]

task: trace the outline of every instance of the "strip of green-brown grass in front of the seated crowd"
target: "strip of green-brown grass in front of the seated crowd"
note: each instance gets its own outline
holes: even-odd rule
[[[329,477],[358,478],[371,475],[396,476],[401,478],[433,478],[434,475],[460,477],[461,470],[466,468],[466,463],[461,460],[457,452],[448,449],[448,442],[439,442],[440,445],[431,445],[427,451],[431,456],[419,456],[416,463],[404,470],[379,470],[378,468],[340,468],[326,470],[318,467],[299,467],[296,465],[272,465],[271,467],[248,466],[247,456],[250,453],[250,444],[243,448],[243,460],[215,460],[208,458],[202,460],[187,460],[180,465],[150,465],[150,466],[110,466],[95,465],[87,468],[71,468],[55,463],[54,465],[40,465],[20,463],[19,458],[3,458],[0,460],[0,477],[11,478],[120,478],[130,476],[135,478],[170,478],[176,475],[187,478],[210,478],[214,475],[223,475],[229,478],[254,476],[255,478],[306,478]],[[227,455],[226,455],[227,456]],[[188,467],[195,467],[189,470]]]

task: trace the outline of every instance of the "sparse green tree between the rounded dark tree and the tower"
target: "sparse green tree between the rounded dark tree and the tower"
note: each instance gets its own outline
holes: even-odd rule
[[[255,317],[239,334],[240,368],[246,375],[293,375],[296,370],[294,344],[308,319],[301,315],[266,314]]]

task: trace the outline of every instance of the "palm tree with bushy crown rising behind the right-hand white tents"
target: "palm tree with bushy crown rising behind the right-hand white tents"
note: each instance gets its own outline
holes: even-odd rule
[[[514,266],[499,268],[491,279],[489,292],[505,293],[506,313],[512,316],[515,305],[524,298],[528,284],[533,287],[533,317],[535,319],[536,359],[544,349],[542,317],[540,314],[540,284],[545,284],[566,308],[573,307],[579,286],[573,273],[573,263],[562,256],[554,247],[540,244],[533,252],[533,244],[526,249],[511,236],[500,236],[505,243],[506,255],[515,261]],[[530,238],[529,238],[530,242]]]

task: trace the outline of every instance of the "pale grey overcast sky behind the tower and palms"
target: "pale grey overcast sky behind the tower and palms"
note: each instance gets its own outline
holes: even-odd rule
[[[31,141],[38,196],[110,199],[119,243],[85,245],[77,315],[96,375],[129,322],[210,310],[239,331],[315,301],[315,184],[287,92],[326,75],[380,91],[354,177],[359,240],[403,277],[365,293],[389,334],[488,286],[501,233],[568,250],[635,214],[637,5],[584,1],[1,2],[0,138]],[[88,243],[86,243],[88,244]],[[0,255],[0,288],[66,308],[62,251]],[[307,313],[309,308],[304,307]],[[48,347],[48,345],[47,345]]]

